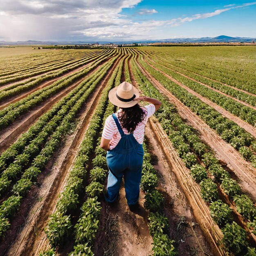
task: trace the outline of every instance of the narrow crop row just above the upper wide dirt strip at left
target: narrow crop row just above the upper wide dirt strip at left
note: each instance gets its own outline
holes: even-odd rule
[[[49,79],[54,79],[58,76],[66,74],[66,73],[76,69],[77,67],[85,65],[87,63],[92,62],[90,65],[93,65],[95,62],[97,62],[99,60],[99,58],[103,58],[104,56],[108,56],[108,52],[106,52],[104,54],[99,53],[96,56],[94,56],[93,58],[91,58],[91,56],[88,56],[88,58],[85,58],[84,60],[77,62],[75,65],[68,65],[67,67],[65,67],[61,70],[53,71],[53,72],[44,74],[39,77],[31,78],[31,79],[29,79],[29,81],[16,83],[14,85],[9,86],[8,88],[4,88],[4,89],[0,90],[0,101],[9,99],[10,97],[13,97],[16,94],[19,94],[20,92],[24,92],[31,88],[34,88],[34,87],[36,87],[36,85],[39,85],[40,83],[43,83],[45,81],[48,81]],[[90,66],[88,66],[88,67],[90,67]],[[72,76],[72,74],[70,76]]]

